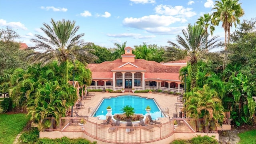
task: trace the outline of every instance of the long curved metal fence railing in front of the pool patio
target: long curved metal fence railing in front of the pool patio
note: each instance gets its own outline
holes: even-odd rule
[[[84,124],[80,124],[81,120]],[[178,126],[174,126],[174,120],[178,122]],[[90,122],[84,118],[60,118],[59,122],[54,118],[46,118],[45,121],[51,123],[51,126],[44,128],[42,131],[61,131],[61,132],[84,132],[88,136],[104,142],[118,144],[139,144],[146,142],[154,142],[162,140],[176,133],[217,133],[216,122],[206,122],[204,119],[192,118],[175,118],[169,122],[132,127],[102,125]]]

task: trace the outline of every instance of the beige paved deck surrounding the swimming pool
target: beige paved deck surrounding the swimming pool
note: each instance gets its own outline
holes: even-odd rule
[[[82,104],[84,104],[84,108],[76,109],[74,107],[73,110],[76,110],[79,115],[89,116],[89,120],[95,123],[102,123],[103,120],[99,120],[99,117],[90,117],[90,115],[92,114],[92,112],[88,113],[88,109],[90,107],[96,109],[98,104],[101,102],[102,98],[109,98],[110,96],[128,95],[128,92],[124,92],[124,93],[90,92],[90,93],[94,93],[95,96],[93,96],[91,99],[82,100]],[[159,119],[157,120],[158,122],[162,122],[162,123],[168,122],[169,121],[168,115],[172,118],[173,114],[176,113],[174,104],[178,102],[177,102],[177,96],[175,95],[172,95],[172,94],[166,95],[166,94],[159,94],[159,93],[155,93],[155,94],[154,93],[138,93],[138,94],[134,93],[133,94],[132,92],[130,92],[130,95],[154,98],[158,106],[161,108],[161,110],[165,108],[169,108],[169,114],[166,113],[167,117],[158,118]],[[177,111],[180,112],[180,108],[178,108]]]

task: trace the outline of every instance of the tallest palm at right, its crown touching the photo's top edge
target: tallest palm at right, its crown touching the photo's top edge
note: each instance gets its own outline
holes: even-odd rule
[[[244,15],[244,10],[241,8],[241,3],[238,3],[239,0],[221,0],[216,1],[214,4],[213,10],[216,10],[212,13],[213,19],[212,22],[214,25],[218,25],[222,21],[222,28],[225,31],[225,42],[224,48],[226,50],[227,45],[227,33],[228,33],[228,43],[230,40],[230,27],[234,23],[239,23],[239,18]]]

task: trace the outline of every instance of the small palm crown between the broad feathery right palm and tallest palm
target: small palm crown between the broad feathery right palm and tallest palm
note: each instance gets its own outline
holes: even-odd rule
[[[213,24],[211,23],[211,20],[212,20],[211,14],[204,14],[204,16],[200,16],[197,19],[196,24],[200,24],[200,25],[204,26],[204,30],[206,31],[206,34],[208,34],[208,27],[209,27],[210,34],[212,35],[215,28],[214,28]]]

